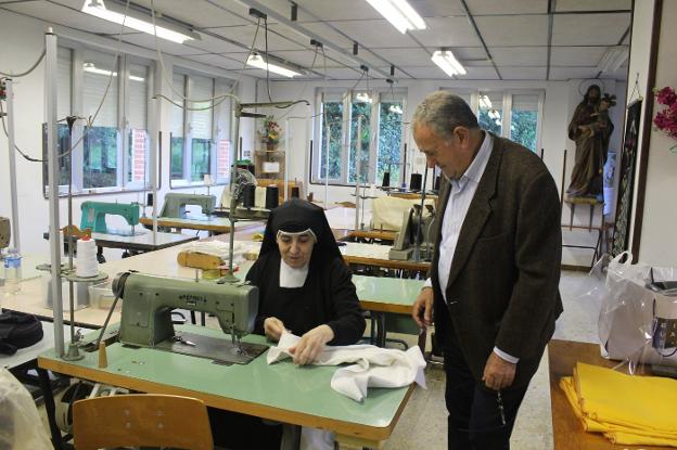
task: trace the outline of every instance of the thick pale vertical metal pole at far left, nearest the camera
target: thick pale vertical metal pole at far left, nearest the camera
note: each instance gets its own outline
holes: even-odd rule
[[[44,35],[44,89],[47,97],[47,155],[49,168],[50,260],[52,274],[52,312],[54,351],[64,356],[63,298],[61,296],[61,236],[59,233],[59,150],[56,147],[56,35],[48,28]]]

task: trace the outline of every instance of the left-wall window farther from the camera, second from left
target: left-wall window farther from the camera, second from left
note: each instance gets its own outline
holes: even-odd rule
[[[230,179],[230,85],[194,74],[174,74],[171,112],[171,187],[197,185],[209,175],[217,183]],[[190,108],[186,110],[184,105]]]

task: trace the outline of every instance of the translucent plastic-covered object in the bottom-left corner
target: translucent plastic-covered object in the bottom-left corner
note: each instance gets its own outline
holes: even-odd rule
[[[26,388],[0,368],[0,450],[49,450],[52,442]]]

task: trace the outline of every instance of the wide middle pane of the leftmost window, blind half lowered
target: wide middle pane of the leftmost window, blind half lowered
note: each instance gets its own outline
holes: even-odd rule
[[[82,187],[86,189],[115,187],[118,149],[117,63],[112,54],[89,50],[84,52],[84,60],[85,116],[93,116],[98,110],[99,114],[84,140]],[[105,100],[101,103],[104,93]]]

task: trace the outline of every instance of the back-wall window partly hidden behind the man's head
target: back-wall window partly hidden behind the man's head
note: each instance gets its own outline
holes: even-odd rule
[[[485,130],[509,138],[533,152],[540,146],[544,91],[452,92],[471,105]]]

